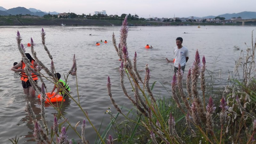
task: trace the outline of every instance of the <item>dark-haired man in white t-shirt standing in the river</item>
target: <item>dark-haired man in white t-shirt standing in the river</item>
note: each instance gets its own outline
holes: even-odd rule
[[[181,66],[181,69],[184,73],[186,62],[188,61],[188,49],[182,45],[183,39],[181,37],[176,38],[176,45],[173,48],[173,54],[175,56],[174,61],[174,74],[176,74],[179,64]],[[166,58],[168,61],[168,59]]]

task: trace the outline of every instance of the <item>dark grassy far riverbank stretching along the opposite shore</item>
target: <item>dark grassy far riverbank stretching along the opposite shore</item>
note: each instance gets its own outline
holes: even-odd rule
[[[223,25],[223,23],[198,22],[162,22],[162,21],[128,21],[129,26],[184,26],[184,25]],[[45,18],[10,18],[0,17],[0,26],[121,26],[122,20],[89,20],[89,19],[45,19]],[[242,25],[242,22],[226,23],[225,25]],[[256,23],[245,23],[256,25]]]

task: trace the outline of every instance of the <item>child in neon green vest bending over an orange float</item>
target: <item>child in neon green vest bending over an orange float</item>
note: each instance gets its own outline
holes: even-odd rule
[[[65,81],[63,81],[62,79],[60,79],[60,73],[56,73],[54,74],[55,78],[58,80],[57,85],[55,84],[52,92],[50,93],[50,95],[55,91],[55,89],[57,88],[57,92],[52,96],[55,97],[58,93],[60,93],[62,96],[67,96],[68,94],[65,92],[65,90],[67,92],[70,92],[70,88],[68,86],[68,84],[66,84]],[[63,89],[64,88],[64,89]]]

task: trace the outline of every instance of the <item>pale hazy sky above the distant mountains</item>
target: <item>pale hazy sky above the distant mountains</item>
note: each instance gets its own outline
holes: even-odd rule
[[[106,10],[107,15],[122,13],[143,18],[204,17],[225,13],[256,12],[256,0],[0,0],[5,9],[35,8],[44,12],[93,14]]]

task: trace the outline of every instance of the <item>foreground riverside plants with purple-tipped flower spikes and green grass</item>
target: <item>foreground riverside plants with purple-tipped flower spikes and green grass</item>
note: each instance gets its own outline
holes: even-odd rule
[[[42,43],[49,58],[52,56],[45,45],[45,32],[42,29]],[[207,92],[206,84],[206,58],[203,56],[202,62],[199,52],[196,51],[195,59],[192,67],[187,74],[186,85],[183,87],[183,71],[179,66],[179,70],[173,75],[172,86],[172,99],[170,98],[156,98],[153,94],[155,82],[150,87],[150,69],[146,64],[146,74],[142,78],[137,70],[137,53],[135,52],[133,61],[128,54],[126,39],[128,36],[128,23],[125,17],[120,29],[120,42],[116,43],[115,34],[112,36],[112,43],[116,49],[117,55],[121,59],[119,67],[120,85],[124,95],[131,101],[134,108],[128,110],[125,114],[123,108],[119,107],[114,100],[111,92],[110,76],[107,79],[107,91],[113,106],[117,110],[117,114],[113,114],[110,110],[108,113],[112,119],[108,128],[100,135],[99,131],[94,127],[87,112],[80,106],[79,94],[78,101],[76,101],[70,94],[70,97],[77,106],[84,113],[86,119],[81,124],[82,133],[76,131],[77,123],[70,124],[67,120],[59,124],[60,117],[65,117],[60,113],[63,101],[60,107],[54,107],[58,112],[54,116],[54,123],[51,130],[48,129],[48,123],[45,119],[45,85],[44,80],[49,80],[57,84],[54,78],[54,63],[52,60],[51,70],[46,68],[44,64],[36,57],[34,51],[34,43],[31,38],[31,52],[33,57],[38,62],[39,67],[36,71],[30,68],[31,63],[26,58],[24,47],[21,44],[20,33],[17,32],[17,43],[21,53],[22,59],[26,63],[26,73],[29,76],[29,71],[40,74],[42,86],[38,86],[29,76],[30,82],[36,91],[42,94],[41,100],[41,117],[43,126],[36,120],[35,114],[32,111],[30,102],[26,104],[26,111],[31,117],[34,124],[34,139],[37,143],[79,143],[74,139],[68,140],[66,128],[63,127],[64,123],[68,123],[67,128],[71,128],[77,133],[82,143],[89,143],[85,139],[86,121],[92,126],[97,134],[99,143],[109,144],[112,143],[255,143],[254,134],[256,132],[256,118],[255,118],[255,101],[256,92],[254,91],[255,84],[255,40],[253,42],[252,35],[252,48],[247,47],[246,53],[241,51],[241,55],[236,61],[232,78],[229,79],[230,84],[225,87],[221,97],[210,95]],[[42,68],[48,76],[44,76],[39,68]],[[69,74],[76,71],[76,59],[73,58],[73,65],[65,79],[68,79]],[[49,78],[49,76],[51,78]],[[125,76],[131,85],[133,96],[127,92],[127,85],[124,81]],[[199,84],[200,82],[200,84]],[[63,88],[63,87],[62,87]],[[186,88],[186,89],[185,89]],[[65,89],[64,89],[65,90]],[[217,107],[215,106],[217,105]],[[118,120],[121,117],[125,120]],[[132,115],[132,116],[131,116]],[[168,116],[166,116],[168,115]],[[120,122],[121,121],[121,122]],[[115,136],[107,133],[112,130]],[[143,136],[140,136],[143,135]],[[18,139],[12,138],[12,143],[18,143]],[[96,142],[95,142],[96,143]]]

